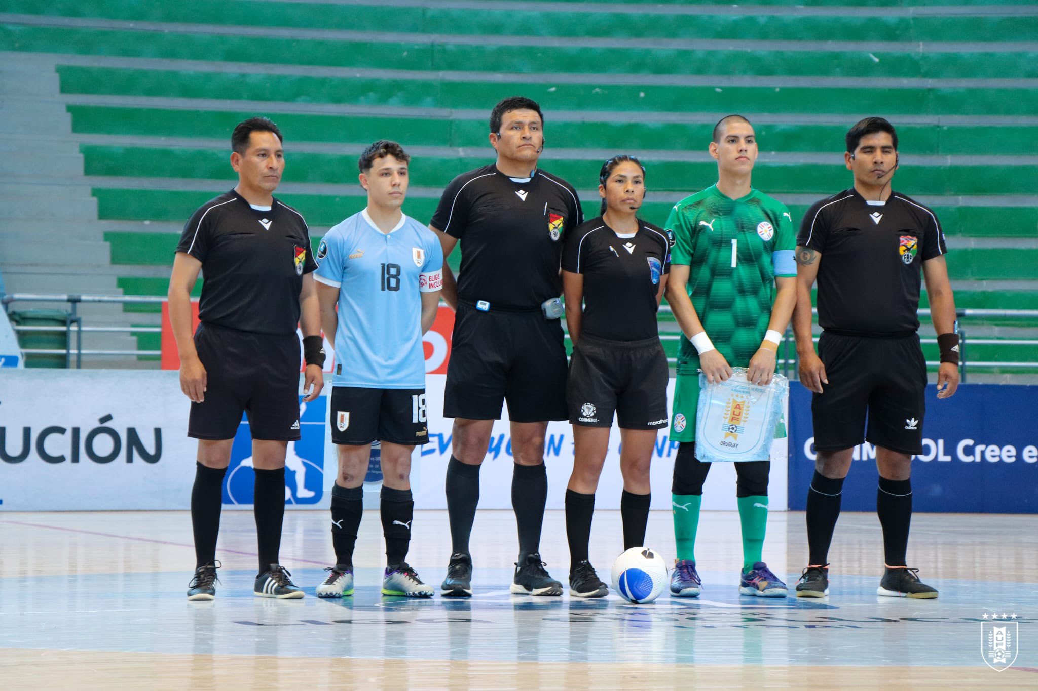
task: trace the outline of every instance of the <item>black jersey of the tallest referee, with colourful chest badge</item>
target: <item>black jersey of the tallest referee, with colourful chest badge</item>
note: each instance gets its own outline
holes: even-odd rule
[[[429,225],[460,240],[460,299],[534,310],[562,293],[563,240],[582,221],[562,178],[543,170],[512,178],[491,164],[452,180]]]

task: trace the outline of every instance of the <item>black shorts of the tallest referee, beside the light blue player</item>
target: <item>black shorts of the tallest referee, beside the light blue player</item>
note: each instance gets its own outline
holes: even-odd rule
[[[566,420],[566,347],[558,319],[458,305],[443,416],[515,423]]]

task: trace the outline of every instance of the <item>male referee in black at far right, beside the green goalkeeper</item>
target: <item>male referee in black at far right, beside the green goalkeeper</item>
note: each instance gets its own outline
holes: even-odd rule
[[[828,549],[853,448],[876,447],[876,513],[885,570],[877,593],[936,598],[905,560],[911,522],[912,454],[923,451],[926,361],[920,348],[920,271],[940,348],[937,398],[959,383],[955,300],[945,235],[933,211],[891,189],[898,136],[879,117],[847,133],[844,160],[854,186],[816,202],[797,237],[793,315],[800,380],[811,404],[818,460],[808,490],[809,566],[798,597],[828,595]],[[818,280],[818,354],[811,336],[811,287]],[[868,427],[866,420],[868,419]]]

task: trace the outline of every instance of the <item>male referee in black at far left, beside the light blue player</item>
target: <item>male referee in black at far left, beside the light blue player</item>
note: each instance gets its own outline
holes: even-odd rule
[[[184,227],[169,279],[169,317],[181,356],[181,388],[191,399],[188,436],[198,439],[191,492],[194,578],[189,600],[216,595],[216,538],[223,476],[248,414],[255,469],[257,597],[303,597],[278,565],[284,517],[284,456],[299,439],[299,338],[306,370],[303,402],[321,393],[323,339],[310,272],[306,222],[272,194],[284,171],[281,133],[250,118],[230,137],[238,185],[202,204]],[[191,335],[191,289],[204,273],[198,325]]]

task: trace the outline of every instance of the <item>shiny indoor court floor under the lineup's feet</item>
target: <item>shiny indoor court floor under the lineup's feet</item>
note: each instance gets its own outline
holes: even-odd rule
[[[844,514],[829,597],[766,600],[736,589],[738,515],[704,513],[702,597],[647,605],[510,595],[514,518],[489,511],[476,517],[471,600],[382,597],[375,512],[356,595],[319,600],[328,522],[286,514],[281,563],[307,597],[274,601],[252,595],[251,513],[225,511],[217,600],[188,602],[187,513],[0,513],[0,688],[1038,688],[1038,516],[917,515],[909,566],[940,597],[912,601],[876,596],[878,521]],[[438,585],[445,512],[416,512],[413,535],[409,562]],[[620,535],[619,512],[596,514],[592,562],[606,579]],[[668,513],[653,513],[648,542],[673,556]],[[543,556],[565,581],[562,512],[548,512]],[[765,559],[791,589],[805,558],[803,514],[772,513]],[[1015,635],[1003,671],[983,658],[992,621]]]

